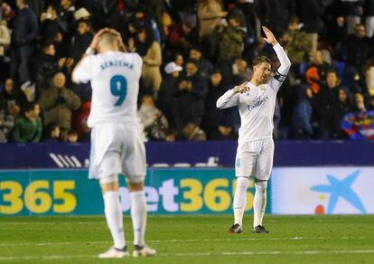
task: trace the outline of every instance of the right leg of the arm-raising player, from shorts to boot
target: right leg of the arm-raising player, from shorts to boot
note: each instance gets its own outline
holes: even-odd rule
[[[257,171],[255,181],[255,197],[253,200],[253,232],[267,233],[263,226],[263,219],[266,211],[266,190],[267,181],[273,167],[274,141],[267,139],[262,141],[262,150],[257,158]]]

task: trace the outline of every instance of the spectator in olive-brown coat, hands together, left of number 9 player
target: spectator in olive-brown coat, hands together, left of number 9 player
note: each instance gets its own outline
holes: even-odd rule
[[[44,113],[45,126],[55,123],[61,127],[61,139],[66,141],[71,128],[72,111],[80,106],[79,97],[65,86],[65,75],[57,72],[53,76],[52,86],[42,93],[39,103]]]

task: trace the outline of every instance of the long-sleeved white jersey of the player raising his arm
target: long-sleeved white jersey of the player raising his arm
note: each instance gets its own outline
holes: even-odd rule
[[[274,46],[274,50],[281,66],[272,79],[259,86],[255,86],[248,81],[246,86],[249,90],[247,92],[240,94],[228,90],[217,101],[218,108],[238,106],[241,121],[238,131],[239,145],[252,140],[273,137],[276,93],[291,66],[291,62],[279,44]]]

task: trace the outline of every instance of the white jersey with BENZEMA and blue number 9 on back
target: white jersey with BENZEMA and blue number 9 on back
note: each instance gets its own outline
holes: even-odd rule
[[[142,75],[137,53],[104,52],[84,58],[73,80],[91,81],[92,99],[88,126],[100,122],[137,122],[137,95]]]

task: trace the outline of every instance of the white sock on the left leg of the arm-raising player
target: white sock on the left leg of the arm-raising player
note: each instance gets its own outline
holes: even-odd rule
[[[240,226],[243,222],[243,214],[247,204],[248,184],[249,180],[247,177],[238,177],[234,195],[234,223],[238,223]]]

